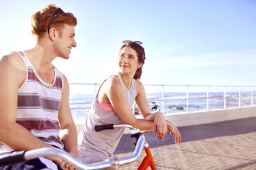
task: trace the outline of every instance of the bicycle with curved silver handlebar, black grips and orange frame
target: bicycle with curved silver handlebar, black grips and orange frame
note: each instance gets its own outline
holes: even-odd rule
[[[151,169],[156,169],[155,162],[153,161],[153,157],[151,151],[149,149],[149,145],[145,142],[144,132],[140,132],[140,130],[132,127],[131,125],[96,125],[95,130],[107,130],[114,129],[118,127],[128,127],[131,130],[131,137],[136,138],[136,147],[134,149],[134,153],[132,156],[126,158],[108,158],[103,162],[96,162],[93,164],[85,164],[71,156],[66,151],[62,149],[45,147],[41,149],[34,149],[30,151],[17,151],[12,154],[6,154],[0,156],[0,167],[7,165],[15,165],[19,162],[25,162],[28,160],[32,160],[34,158],[39,158],[41,156],[56,156],[61,158],[65,162],[69,163],[76,169],[84,169],[84,170],[92,170],[92,169],[118,169],[120,165],[125,165],[130,162],[133,162],[140,156],[142,151],[142,147],[145,149],[145,158],[142,160],[140,167],[138,169],[147,169],[147,167],[151,167]]]

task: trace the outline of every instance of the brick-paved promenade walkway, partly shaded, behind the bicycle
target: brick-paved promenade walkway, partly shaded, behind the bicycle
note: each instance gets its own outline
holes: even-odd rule
[[[171,135],[158,141],[153,132],[145,134],[158,169],[256,170],[256,117],[179,127],[179,130],[180,145],[173,144]],[[133,143],[134,138],[125,134],[114,155],[131,156]],[[144,151],[138,160],[120,169],[136,169],[143,157]]]

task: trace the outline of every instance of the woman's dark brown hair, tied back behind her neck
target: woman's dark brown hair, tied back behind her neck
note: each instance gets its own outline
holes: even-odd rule
[[[142,66],[145,62],[145,50],[144,48],[139,45],[136,42],[126,42],[124,45],[122,45],[122,47],[120,48],[120,51],[125,48],[125,47],[131,47],[132,49],[134,49],[137,53],[138,56],[138,62],[142,63]],[[142,66],[140,66],[140,68],[137,69],[135,75],[134,75],[134,79],[138,80],[140,79],[141,75],[142,75]]]

